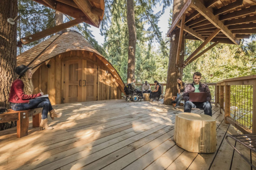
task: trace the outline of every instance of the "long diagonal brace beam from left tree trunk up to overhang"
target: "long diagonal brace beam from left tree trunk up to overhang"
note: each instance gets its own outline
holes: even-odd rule
[[[30,43],[30,42],[33,42],[33,41],[36,41],[36,40],[39,40],[41,38],[44,38],[46,36],[49,36],[51,34],[54,34],[54,33],[57,33],[63,29],[66,29],[66,28],[69,28],[69,27],[72,27],[72,26],[75,26],[79,23],[82,23],[84,21],[84,18],[77,18],[75,20],[72,20],[72,21],[69,21],[69,22],[66,22],[66,23],[63,23],[63,24],[60,24],[60,25],[57,25],[53,28],[49,28],[49,29],[46,29],[44,31],[41,31],[41,32],[38,32],[38,33],[35,33],[33,35],[30,35],[30,36],[27,36],[27,37],[24,37],[21,39],[21,42],[23,44],[27,44],[27,43]]]

